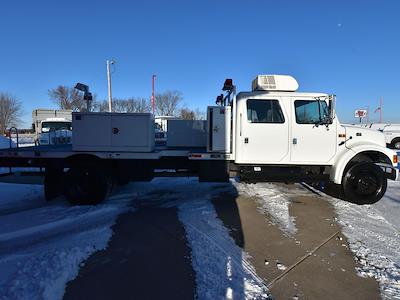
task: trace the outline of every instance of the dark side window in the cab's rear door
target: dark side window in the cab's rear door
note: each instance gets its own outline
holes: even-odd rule
[[[248,99],[247,120],[251,123],[285,123],[278,100]]]

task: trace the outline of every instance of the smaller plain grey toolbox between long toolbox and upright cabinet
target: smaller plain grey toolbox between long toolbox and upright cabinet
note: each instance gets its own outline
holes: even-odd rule
[[[168,147],[206,147],[207,121],[168,120]]]

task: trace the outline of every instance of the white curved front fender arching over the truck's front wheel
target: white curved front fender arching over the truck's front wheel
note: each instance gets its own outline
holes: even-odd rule
[[[329,174],[329,178],[336,184],[342,183],[343,173],[352,158],[354,158],[357,154],[367,151],[375,151],[382,153],[385,155],[388,160],[391,162],[391,165],[395,168],[397,167],[397,163],[395,163],[394,156],[397,155],[396,151],[390,150],[388,148],[373,145],[373,144],[359,144],[357,146],[352,146],[351,148],[344,148],[341,152],[339,152],[336,156],[335,163],[331,167],[331,172]]]

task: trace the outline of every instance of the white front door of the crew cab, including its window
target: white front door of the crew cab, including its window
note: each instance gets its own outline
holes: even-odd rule
[[[329,164],[337,151],[337,122],[320,124],[328,105],[314,98],[292,99],[291,161],[302,164]]]

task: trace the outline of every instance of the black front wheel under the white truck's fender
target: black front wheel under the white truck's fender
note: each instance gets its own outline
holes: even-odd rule
[[[350,167],[343,177],[343,193],[356,204],[378,202],[386,192],[387,178],[377,165],[361,162]]]

